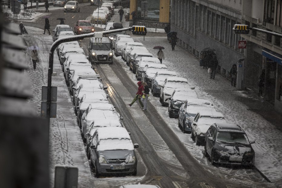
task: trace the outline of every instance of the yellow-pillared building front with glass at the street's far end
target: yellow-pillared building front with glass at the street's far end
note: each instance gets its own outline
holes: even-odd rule
[[[136,12],[135,25],[150,28],[164,28],[169,23],[170,0],[130,0],[130,25],[133,11]]]

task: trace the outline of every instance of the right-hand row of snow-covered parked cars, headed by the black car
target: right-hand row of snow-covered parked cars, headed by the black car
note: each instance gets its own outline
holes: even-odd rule
[[[137,80],[151,87],[154,97],[162,106],[168,107],[169,117],[178,118],[179,128],[191,135],[197,145],[205,148],[211,163],[232,163],[252,166],[254,164],[253,140],[237,124],[227,123],[225,117],[215,110],[211,101],[199,99],[195,87],[187,79],[169,71],[158,58],[129,35],[116,35],[113,39],[115,55],[129,66]]]

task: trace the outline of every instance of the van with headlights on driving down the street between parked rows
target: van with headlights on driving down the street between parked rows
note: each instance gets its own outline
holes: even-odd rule
[[[113,64],[113,51],[109,38],[90,38],[89,60],[91,64],[108,63]]]

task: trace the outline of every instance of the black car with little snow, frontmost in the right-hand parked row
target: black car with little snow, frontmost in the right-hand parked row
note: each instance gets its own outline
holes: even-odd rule
[[[236,124],[212,124],[205,135],[205,155],[215,163],[254,165],[254,150],[245,131]]]

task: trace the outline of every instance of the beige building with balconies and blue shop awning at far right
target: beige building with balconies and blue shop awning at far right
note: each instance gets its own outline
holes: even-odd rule
[[[242,24],[280,33],[282,0],[249,0],[243,2]],[[275,110],[282,113],[282,43],[281,38],[251,30],[242,35],[247,40],[245,87],[259,92]],[[262,72],[265,71],[265,74]]]

